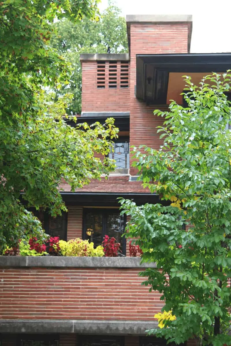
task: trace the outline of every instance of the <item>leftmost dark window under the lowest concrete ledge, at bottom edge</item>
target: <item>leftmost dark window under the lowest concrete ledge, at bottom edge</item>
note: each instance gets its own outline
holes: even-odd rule
[[[17,346],[59,346],[58,335],[20,335],[17,340]]]

